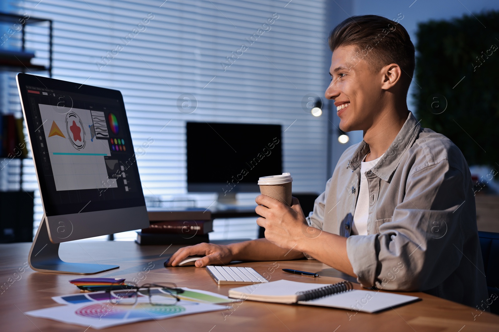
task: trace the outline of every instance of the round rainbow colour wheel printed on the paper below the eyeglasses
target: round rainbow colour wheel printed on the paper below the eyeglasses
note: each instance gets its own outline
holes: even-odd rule
[[[130,309],[131,306],[121,305],[104,305],[101,303],[91,304],[76,310],[75,314],[78,316],[98,319],[123,319],[125,317],[133,318],[150,318],[150,317],[167,317],[175,314],[180,314],[186,309],[182,306],[151,306],[149,304],[136,306]]]

